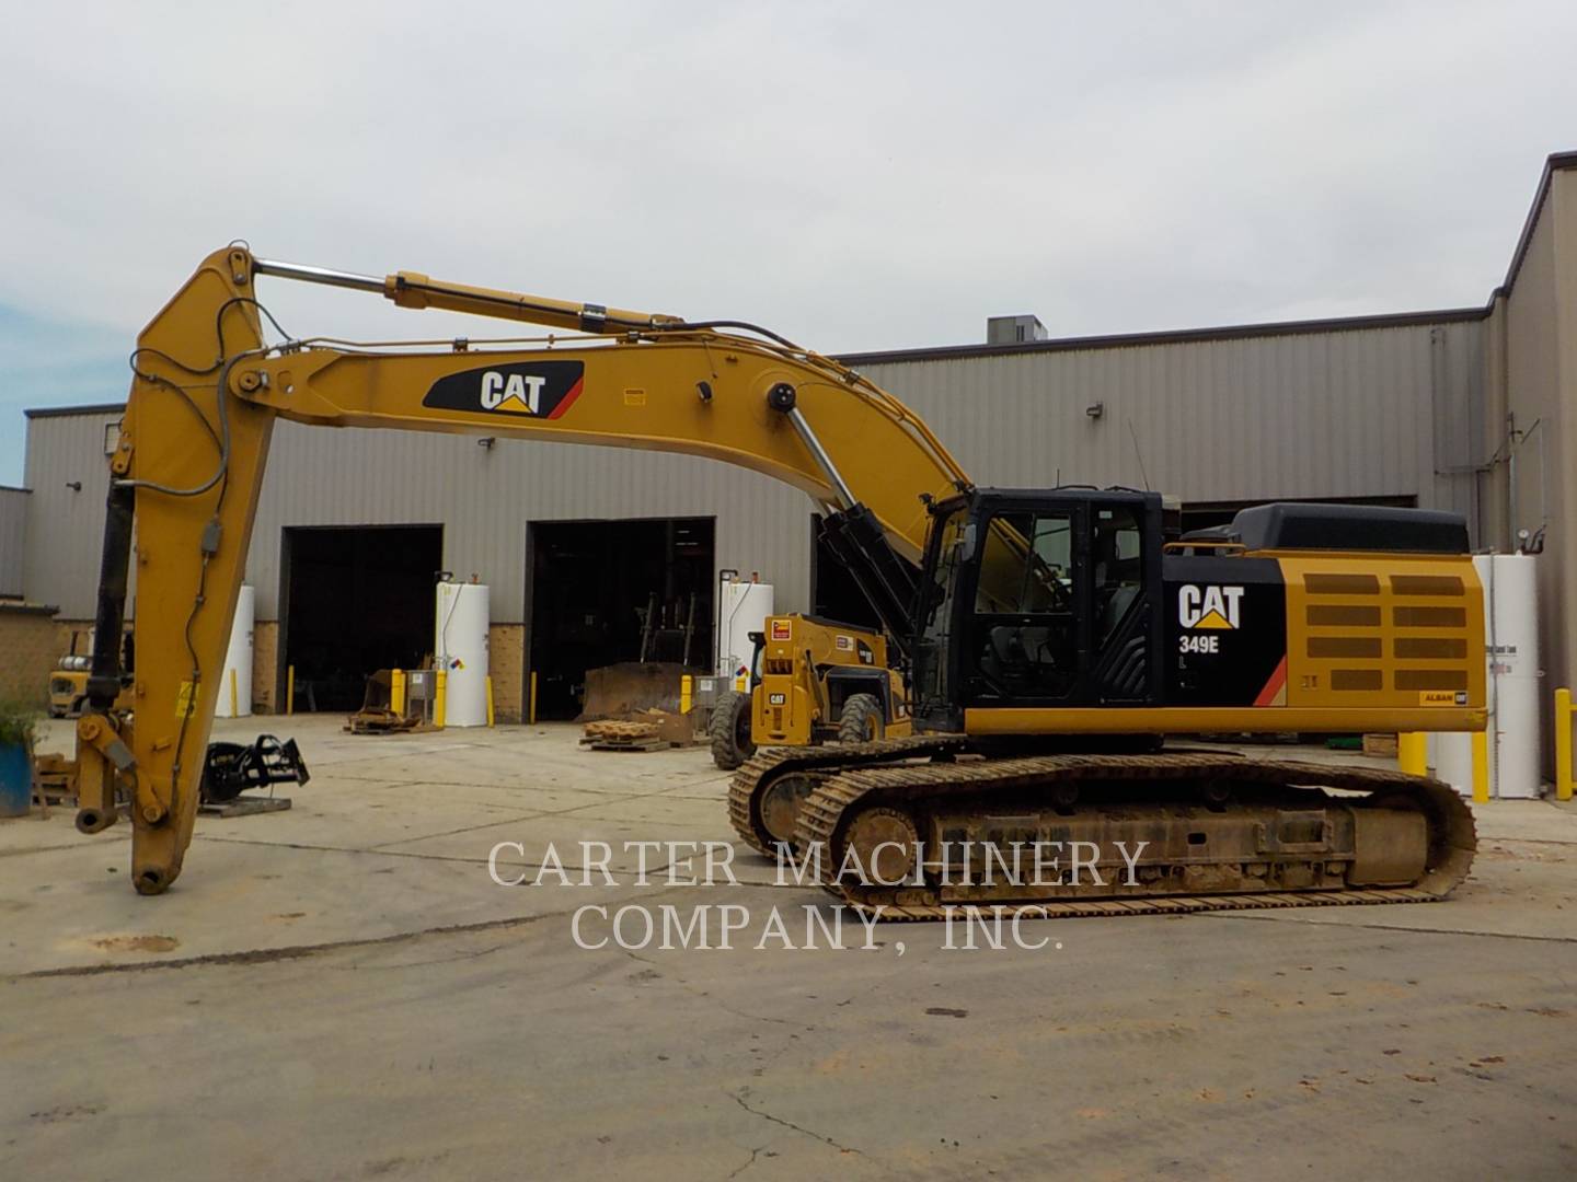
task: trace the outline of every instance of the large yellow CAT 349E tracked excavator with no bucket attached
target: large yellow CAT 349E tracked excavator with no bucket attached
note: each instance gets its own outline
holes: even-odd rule
[[[285,336],[260,279],[576,336],[358,345]],[[265,340],[265,325],[279,339]],[[1482,589],[1460,517],[1274,504],[1169,541],[1161,498],[976,487],[902,402],[740,322],[210,255],[139,337],[112,482],[77,826],[131,804],[132,883],[181,872],[219,671],[278,419],[706,455],[809,495],[897,648],[915,734],[763,749],[740,837],[818,849],[817,878],[883,917],[1438,898],[1471,812],[1385,769],[1176,749],[1200,733],[1484,727]],[[136,561],[134,716],[112,711]],[[1085,845],[1093,875],[948,873],[960,843]],[[1118,870],[1112,848],[1129,860]],[[967,848],[967,846],[965,846]],[[850,864],[878,873],[850,876]],[[1098,864],[1096,864],[1098,862]],[[1101,872],[1105,873],[1101,873]],[[1001,914],[1001,913],[998,913]]]

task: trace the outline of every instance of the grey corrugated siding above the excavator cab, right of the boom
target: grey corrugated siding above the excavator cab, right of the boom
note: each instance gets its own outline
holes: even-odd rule
[[[1481,413],[1482,326],[866,364],[978,484],[1128,484],[1184,501],[1416,495],[1445,507],[1433,411]],[[1099,419],[1085,411],[1104,405]],[[1467,507],[1467,506],[1463,506]]]

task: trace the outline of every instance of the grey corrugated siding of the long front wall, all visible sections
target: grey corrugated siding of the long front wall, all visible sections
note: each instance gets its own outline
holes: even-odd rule
[[[1438,407],[1440,437],[1456,448],[1456,424],[1481,413],[1481,353],[1482,326],[1454,322],[874,362],[864,372],[919,411],[979,484],[1148,478],[1184,501],[1399,495],[1470,512],[1471,481],[1435,476],[1468,452],[1437,465],[1433,418]],[[1096,402],[1101,419],[1085,414]],[[93,610],[103,422],[28,426],[28,481],[39,490],[28,594],[73,616]],[[82,493],[62,495],[66,479],[82,479]],[[248,578],[259,618],[271,619],[282,528],[443,523],[445,566],[489,582],[495,619],[514,623],[527,522],[675,515],[714,515],[719,566],[760,571],[782,610],[809,607],[811,506],[763,476],[615,448],[500,440],[489,451],[468,437],[289,422],[274,435]]]

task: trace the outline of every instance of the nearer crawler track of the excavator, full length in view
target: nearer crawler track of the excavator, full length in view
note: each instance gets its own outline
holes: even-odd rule
[[[796,848],[822,843],[822,886],[889,920],[965,908],[1077,917],[1424,903],[1467,878],[1476,848],[1471,810],[1438,780],[1194,752],[842,768],[806,796],[796,823]],[[945,862],[938,875],[934,862],[941,842],[1120,832],[1148,834],[1159,849],[1137,859],[1132,883],[1096,886],[1076,872],[1072,883],[986,886],[949,879]],[[905,862],[893,849],[908,838],[932,853]],[[859,860],[872,873],[864,854],[886,857],[882,883],[897,886],[841,875],[850,843],[867,846]]]

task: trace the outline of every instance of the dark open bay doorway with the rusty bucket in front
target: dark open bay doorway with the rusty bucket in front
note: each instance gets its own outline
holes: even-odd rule
[[[647,660],[711,663],[714,526],[711,517],[527,526],[536,717],[576,717],[587,670],[642,660],[642,645]]]

